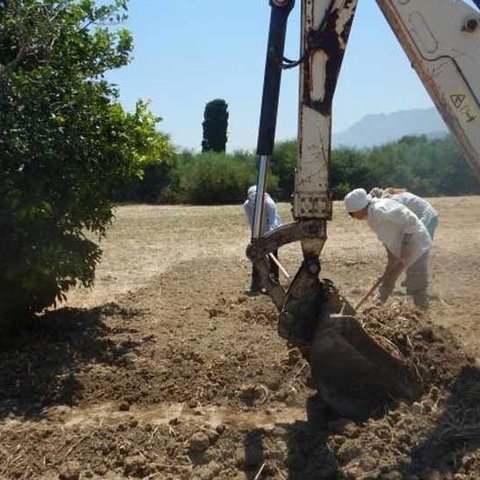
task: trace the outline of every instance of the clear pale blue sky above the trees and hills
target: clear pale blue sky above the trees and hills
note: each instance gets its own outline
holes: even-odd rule
[[[297,58],[300,0],[290,15],[286,55]],[[270,18],[268,0],[130,0],[126,27],[131,65],[110,74],[121,100],[151,100],[160,130],[179,147],[199,150],[205,104],[229,105],[227,150],[253,150]],[[298,73],[283,75],[277,140],[297,131]],[[373,0],[359,0],[334,101],[333,130],[366,114],[433,104]]]

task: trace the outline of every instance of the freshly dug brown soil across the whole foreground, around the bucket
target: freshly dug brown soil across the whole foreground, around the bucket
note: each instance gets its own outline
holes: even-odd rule
[[[480,478],[480,375],[447,330],[404,305],[366,310],[424,394],[354,423],[311,397],[269,299],[239,295],[232,268],[181,265],[4,346],[0,478]]]

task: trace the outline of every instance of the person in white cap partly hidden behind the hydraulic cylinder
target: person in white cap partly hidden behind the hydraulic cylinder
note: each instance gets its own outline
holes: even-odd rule
[[[255,213],[255,200],[257,198],[257,187],[252,185],[247,191],[247,199],[243,203],[243,209],[250,225],[250,230],[253,231],[253,219]],[[265,193],[265,200],[263,203],[263,215],[262,215],[262,227],[260,229],[260,235],[264,235],[267,232],[271,232],[276,228],[282,225],[282,220],[280,219],[277,206],[273,201],[272,197]],[[278,250],[272,252],[273,255],[278,259]],[[270,261],[270,275],[278,282],[278,266],[277,264],[269,258]],[[252,283],[250,285],[250,290],[248,291],[249,295],[258,295],[261,293],[260,287],[260,275],[253,265],[252,268]]]

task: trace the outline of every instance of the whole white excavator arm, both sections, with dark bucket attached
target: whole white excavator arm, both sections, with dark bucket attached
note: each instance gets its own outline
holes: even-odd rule
[[[421,81],[480,179],[480,15],[462,0],[376,0]],[[353,308],[320,279],[332,216],[329,194],[332,101],[357,0],[301,0],[301,52],[284,58],[295,0],[270,0],[271,20],[257,145],[259,167],[247,256],[279,310],[279,334],[302,348],[322,398],[340,414],[364,417],[389,397],[413,399],[419,386],[401,359],[363,330]],[[475,0],[480,7],[480,0]],[[299,65],[298,160],[293,222],[260,235],[282,70]],[[303,260],[285,291],[268,254],[300,242]]]

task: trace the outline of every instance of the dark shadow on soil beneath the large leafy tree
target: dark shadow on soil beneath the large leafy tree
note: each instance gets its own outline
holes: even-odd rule
[[[109,303],[92,309],[62,308],[36,318],[0,341],[0,419],[9,414],[38,419],[46,407],[74,405],[82,398],[77,376],[90,364],[122,365],[136,341],[112,337],[129,327],[109,327],[105,319],[138,316]],[[127,324],[128,325],[128,324]]]

